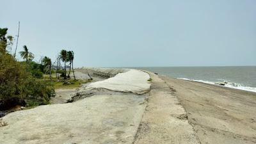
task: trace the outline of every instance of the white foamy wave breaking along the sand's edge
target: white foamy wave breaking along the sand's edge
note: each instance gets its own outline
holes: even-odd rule
[[[207,83],[207,84],[214,84],[214,85],[218,85],[218,86],[224,86],[224,87],[228,87],[228,88],[235,88],[235,89],[238,89],[238,90],[245,90],[245,91],[249,91],[249,92],[256,92],[256,88],[253,88],[253,87],[250,87],[250,86],[242,86],[239,83],[230,83],[230,82],[225,81],[223,79],[221,79],[222,81],[220,81],[220,82],[203,81],[203,80],[187,79],[187,78],[177,78],[177,79],[183,79],[183,80],[186,80],[186,81],[196,81],[196,82]]]

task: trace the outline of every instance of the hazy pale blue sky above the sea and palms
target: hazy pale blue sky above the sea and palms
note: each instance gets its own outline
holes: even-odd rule
[[[0,0],[0,28],[74,67],[256,65],[255,0]],[[12,47],[12,51],[15,44]]]

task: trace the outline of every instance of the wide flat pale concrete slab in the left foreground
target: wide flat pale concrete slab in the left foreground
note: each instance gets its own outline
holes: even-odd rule
[[[145,110],[132,93],[93,95],[77,102],[38,106],[3,117],[0,143],[129,143]]]

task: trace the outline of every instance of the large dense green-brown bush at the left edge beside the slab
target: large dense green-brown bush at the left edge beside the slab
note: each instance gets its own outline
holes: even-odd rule
[[[54,96],[50,82],[35,79],[26,69],[10,54],[0,52],[0,110],[17,104],[23,106],[31,100],[38,104],[48,104]],[[40,77],[38,71],[34,74]]]

